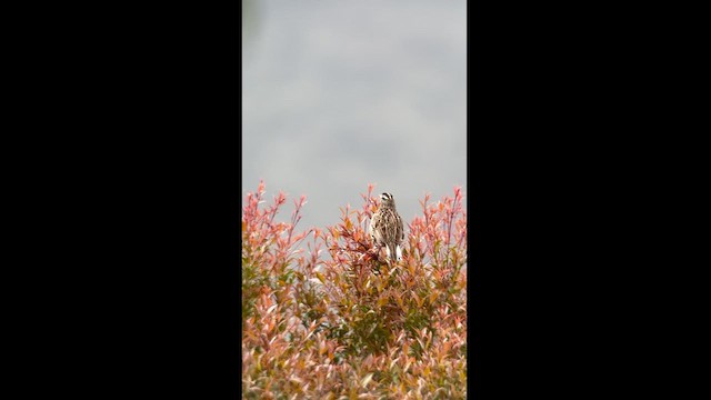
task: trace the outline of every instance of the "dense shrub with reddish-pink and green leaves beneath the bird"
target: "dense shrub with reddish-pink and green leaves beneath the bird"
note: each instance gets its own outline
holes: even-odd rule
[[[242,392],[248,399],[457,399],[467,394],[463,196],[421,201],[404,257],[371,247],[372,184],[340,223],[294,233],[264,184],[242,211]],[[304,249],[306,247],[306,249]]]

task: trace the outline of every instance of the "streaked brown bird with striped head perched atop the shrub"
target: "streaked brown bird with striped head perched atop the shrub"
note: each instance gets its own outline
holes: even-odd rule
[[[373,246],[380,249],[385,247],[388,260],[402,259],[402,248],[400,243],[404,239],[402,218],[395,209],[395,200],[391,193],[380,194],[380,207],[370,220],[370,238]]]

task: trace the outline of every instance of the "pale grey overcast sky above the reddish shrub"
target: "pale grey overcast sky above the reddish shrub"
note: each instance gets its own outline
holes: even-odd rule
[[[467,196],[465,0],[259,0],[244,12],[242,198],[260,179],[308,197],[299,228],[339,221],[368,183],[405,221]],[[292,201],[282,213],[287,220]]]

